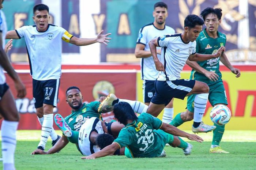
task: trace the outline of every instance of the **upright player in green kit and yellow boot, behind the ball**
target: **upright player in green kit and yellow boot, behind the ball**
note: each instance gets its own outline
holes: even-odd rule
[[[204,19],[206,29],[204,29],[199,37],[196,39],[196,52],[200,54],[214,54],[218,48],[225,46],[226,35],[218,31],[219,24],[221,24],[222,10],[220,8],[207,7],[201,12],[201,16]],[[236,77],[240,77],[240,70],[234,68],[225,53],[222,53],[218,58],[212,58],[206,61],[189,61],[187,64],[192,68],[190,79],[199,80],[208,84],[209,102],[212,106],[215,105],[227,105],[226,91],[222,82],[222,75],[219,71],[219,61],[221,61],[227,68],[233,72]],[[194,98],[195,95],[188,97],[187,110],[185,112],[177,114],[177,116],[171,122],[174,126],[180,126],[186,121],[193,120],[194,114]],[[214,124],[217,128],[213,131],[212,145],[210,148],[211,153],[229,153],[219,147],[219,143],[222,139],[225,125],[220,126]]]

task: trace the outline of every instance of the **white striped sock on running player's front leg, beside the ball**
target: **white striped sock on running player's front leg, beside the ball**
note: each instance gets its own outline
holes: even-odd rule
[[[202,122],[209,93],[197,94],[194,100],[194,122]]]

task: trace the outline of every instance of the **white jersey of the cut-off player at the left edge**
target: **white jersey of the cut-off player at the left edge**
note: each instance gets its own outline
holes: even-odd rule
[[[3,49],[5,46],[5,36],[7,33],[7,25],[6,25],[6,20],[5,20],[5,15],[2,10],[0,10],[0,32],[2,33],[2,43],[3,43]],[[3,68],[0,66],[0,84],[5,83],[5,76],[3,72]]]

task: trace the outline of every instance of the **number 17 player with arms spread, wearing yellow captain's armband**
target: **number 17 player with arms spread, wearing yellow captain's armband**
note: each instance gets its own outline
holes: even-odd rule
[[[53,130],[53,108],[57,106],[60,85],[61,39],[77,46],[85,46],[95,42],[107,45],[111,38],[107,37],[110,34],[103,35],[103,30],[96,38],[77,38],[62,27],[49,24],[49,7],[45,4],[35,5],[33,12],[35,25],[8,31],[6,38],[25,38],[33,78],[33,98],[38,120],[42,125],[38,148],[44,150],[49,135],[53,144],[59,138]]]

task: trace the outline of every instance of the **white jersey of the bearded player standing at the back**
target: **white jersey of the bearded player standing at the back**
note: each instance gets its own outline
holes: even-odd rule
[[[139,37],[137,39],[137,44],[145,45],[144,50],[150,51],[148,42],[151,39],[157,38],[161,35],[166,34],[174,34],[175,31],[173,28],[169,26],[165,26],[163,30],[157,29],[153,23],[147,24],[146,26],[142,27],[139,31]],[[157,47],[157,49],[160,49]],[[159,54],[158,58],[161,56]],[[158,76],[158,71],[155,69],[155,63],[153,57],[141,58],[140,60],[140,70],[141,70],[141,78],[142,80],[155,80]]]

